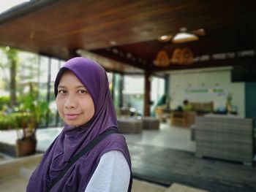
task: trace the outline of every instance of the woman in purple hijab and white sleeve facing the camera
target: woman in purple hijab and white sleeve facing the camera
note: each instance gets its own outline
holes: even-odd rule
[[[131,161],[121,134],[109,134],[60,174],[93,139],[118,128],[102,66],[86,58],[70,59],[59,70],[54,91],[66,125],[31,175],[27,191],[130,191]]]

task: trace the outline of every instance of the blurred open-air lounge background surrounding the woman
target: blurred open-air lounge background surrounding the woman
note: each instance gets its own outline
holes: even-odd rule
[[[132,191],[256,191],[255,1],[0,2],[0,191],[26,191],[64,126],[57,72],[108,72]]]

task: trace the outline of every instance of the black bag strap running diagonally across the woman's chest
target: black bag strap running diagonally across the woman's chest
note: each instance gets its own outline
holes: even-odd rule
[[[107,137],[110,134],[117,134],[118,131],[116,129],[110,129],[108,131],[105,131],[102,134],[99,134],[97,137],[91,140],[86,147],[83,147],[82,150],[78,154],[76,154],[74,157],[70,158],[68,164],[64,167],[64,169],[61,170],[59,175],[50,183],[50,186],[48,187],[47,191],[50,191],[56,183],[61,180],[61,178],[66,174],[67,170],[72,166],[72,164],[75,163],[75,161],[78,161],[78,159],[83,156],[84,154],[88,153],[95,145],[97,145],[102,139]]]

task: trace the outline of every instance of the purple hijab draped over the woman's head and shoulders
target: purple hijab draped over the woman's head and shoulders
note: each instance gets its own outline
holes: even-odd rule
[[[95,108],[94,116],[84,126],[78,128],[64,126],[31,175],[27,187],[29,192],[46,191],[52,180],[58,176],[72,156],[99,134],[111,128],[118,128],[105,69],[86,58],[70,59],[57,74],[54,87],[55,96],[58,94],[59,80],[65,70],[72,71],[91,94]],[[85,191],[99,164],[100,157],[110,150],[121,151],[131,168],[129,151],[124,137],[121,134],[110,134],[89,153],[79,158],[51,191]]]

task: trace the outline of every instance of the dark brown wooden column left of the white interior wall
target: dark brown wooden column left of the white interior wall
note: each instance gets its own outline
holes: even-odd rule
[[[150,116],[150,104],[151,104],[151,80],[150,73],[145,72],[145,88],[144,88],[144,116]]]

